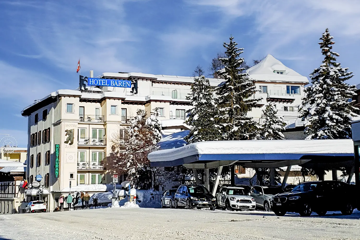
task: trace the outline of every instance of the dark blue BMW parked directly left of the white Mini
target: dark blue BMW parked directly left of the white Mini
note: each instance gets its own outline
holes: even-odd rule
[[[174,207],[216,209],[216,198],[201,185],[180,185],[175,193]]]

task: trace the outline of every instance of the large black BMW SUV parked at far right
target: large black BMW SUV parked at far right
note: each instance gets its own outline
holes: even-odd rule
[[[316,212],[324,216],[328,211],[351,215],[355,205],[355,188],[341,181],[311,181],[297,185],[289,193],[273,196],[272,210],[277,216],[296,212],[310,216]]]

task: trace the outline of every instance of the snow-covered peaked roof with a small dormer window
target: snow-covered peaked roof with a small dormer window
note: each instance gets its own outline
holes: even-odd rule
[[[285,74],[278,74],[274,71],[285,72]],[[246,72],[255,81],[309,83],[307,77],[286,67],[271,54],[267,54],[260,63],[247,69]]]

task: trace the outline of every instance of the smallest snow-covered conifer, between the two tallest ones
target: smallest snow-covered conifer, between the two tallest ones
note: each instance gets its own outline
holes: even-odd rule
[[[264,140],[282,140],[285,139],[283,131],[285,130],[284,119],[276,116],[278,110],[275,103],[269,103],[262,111],[265,116],[265,122],[260,130],[260,137]]]

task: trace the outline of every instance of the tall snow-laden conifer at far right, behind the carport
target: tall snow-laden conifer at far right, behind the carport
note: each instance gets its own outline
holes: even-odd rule
[[[332,39],[327,28],[319,42],[325,56],[323,63],[310,74],[312,86],[305,88],[300,106],[307,139],[351,138],[350,123],[357,116],[352,112],[357,108],[349,101],[356,87],[344,82],[353,75],[336,62],[339,54],[332,51],[335,44]]]

